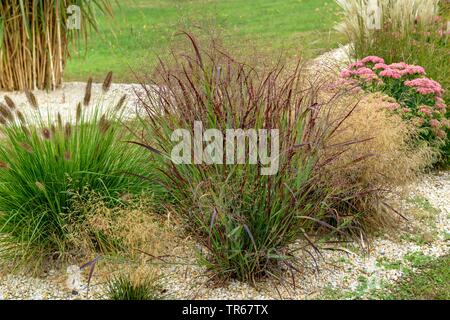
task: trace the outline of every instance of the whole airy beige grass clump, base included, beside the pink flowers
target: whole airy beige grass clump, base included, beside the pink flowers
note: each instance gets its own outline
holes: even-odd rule
[[[339,157],[326,166],[321,178],[324,188],[333,190],[335,223],[354,229],[358,237],[393,225],[399,215],[386,196],[402,192],[435,157],[426,143],[414,142],[416,126],[386,110],[393,103],[378,93],[353,90],[340,98],[331,115],[322,115],[339,121],[356,105],[339,134],[328,142],[323,156]]]

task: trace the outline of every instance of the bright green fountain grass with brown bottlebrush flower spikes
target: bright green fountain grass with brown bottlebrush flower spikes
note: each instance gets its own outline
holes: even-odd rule
[[[33,93],[28,96],[39,107]],[[110,206],[121,203],[122,194],[142,190],[132,174],[147,162],[124,142],[128,133],[117,108],[101,113],[78,104],[76,119],[64,122],[60,115],[45,120],[39,110],[25,118],[5,100],[8,105],[0,106],[1,254],[33,263],[65,257],[78,249],[70,246],[70,234],[85,222],[86,212],[75,210],[80,199],[95,193]]]

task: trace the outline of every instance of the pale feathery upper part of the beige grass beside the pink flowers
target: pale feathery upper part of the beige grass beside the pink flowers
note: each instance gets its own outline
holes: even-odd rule
[[[338,113],[348,112],[355,105],[355,99],[361,100],[340,134],[335,135],[330,143],[370,140],[346,146],[348,151],[342,154],[339,163],[330,166],[330,170],[340,172],[347,163],[370,155],[365,161],[353,163],[351,170],[343,172],[350,174],[350,179],[367,185],[402,186],[417,178],[434,156],[426,144],[413,145],[412,140],[418,135],[417,128],[403,121],[400,115],[389,113],[389,105],[395,102],[378,93],[344,97]]]

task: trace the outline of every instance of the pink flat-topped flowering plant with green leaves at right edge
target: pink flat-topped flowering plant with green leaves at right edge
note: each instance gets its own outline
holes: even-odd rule
[[[386,64],[367,56],[341,71],[341,78],[369,92],[391,97],[388,110],[400,114],[420,129],[419,138],[440,150],[441,161],[450,159],[450,111],[441,84],[427,77],[425,68],[405,62]]]

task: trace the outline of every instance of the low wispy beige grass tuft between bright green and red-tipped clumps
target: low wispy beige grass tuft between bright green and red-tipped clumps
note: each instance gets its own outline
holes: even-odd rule
[[[102,201],[80,203],[86,220],[71,233],[74,256],[93,256],[98,253],[120,255],[136,260],[143,254],[158,257],[167,253],[173,240],[173,228],[153,211],[152,200],[146,196],[123,198],[125,206],[110,208]]]

